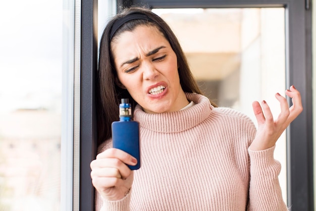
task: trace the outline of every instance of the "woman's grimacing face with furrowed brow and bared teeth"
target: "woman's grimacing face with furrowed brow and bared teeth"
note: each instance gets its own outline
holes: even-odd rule
[[[147,113],[178,111],[188,104],[177,56],[154,26],[137,26],[111,43],[119,82]]]

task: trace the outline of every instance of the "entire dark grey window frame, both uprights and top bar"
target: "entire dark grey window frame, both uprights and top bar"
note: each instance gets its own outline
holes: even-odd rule
[[[311,8],[305,0],[118,0],[118,7],[150,8],[253,8],[284,7],[286,31],[286,86],[301,92],[303,112],[287,130],[288,206],[313,210],[312,57]],[[80,95],[80,210],[94,210],[90,162],[95,158],[96,123],[94,82],[97,71],[97,1],[81,1]],[[289,100],[291,104],[291,101]],[[77,170],[74,170],[77,171]]]

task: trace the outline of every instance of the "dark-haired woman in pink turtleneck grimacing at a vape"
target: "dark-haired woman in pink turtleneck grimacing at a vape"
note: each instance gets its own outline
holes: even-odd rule
[[[98,155],[91,162],[96,210],[287,210],[278,181],[275,143],[302,111],[291,86],[289,108],[276,94],[274,120],[253,102],[256,129],[245,115],[217,108],[201,94],[170,27],[147,9],[130,8],[104,29],[97,92]],[[112,148],[111,123],[130,98],[140,125],[142,167]]]

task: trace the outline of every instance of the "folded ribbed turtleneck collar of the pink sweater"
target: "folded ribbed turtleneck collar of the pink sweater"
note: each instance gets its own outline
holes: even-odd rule
[[[140,105],[136,105],[134,120],[139,122],[141,127],[162,133],[181,132],[198,125],[210,115],[214,107],[209,99],[201,94],[185,94],[195,105],[185,110],[160,114],[147,114]]]

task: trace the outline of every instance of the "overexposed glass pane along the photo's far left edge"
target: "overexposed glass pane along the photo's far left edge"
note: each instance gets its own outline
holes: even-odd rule
[[[60,210],[63,1],[3,1],[0,20],[0,210]]]

